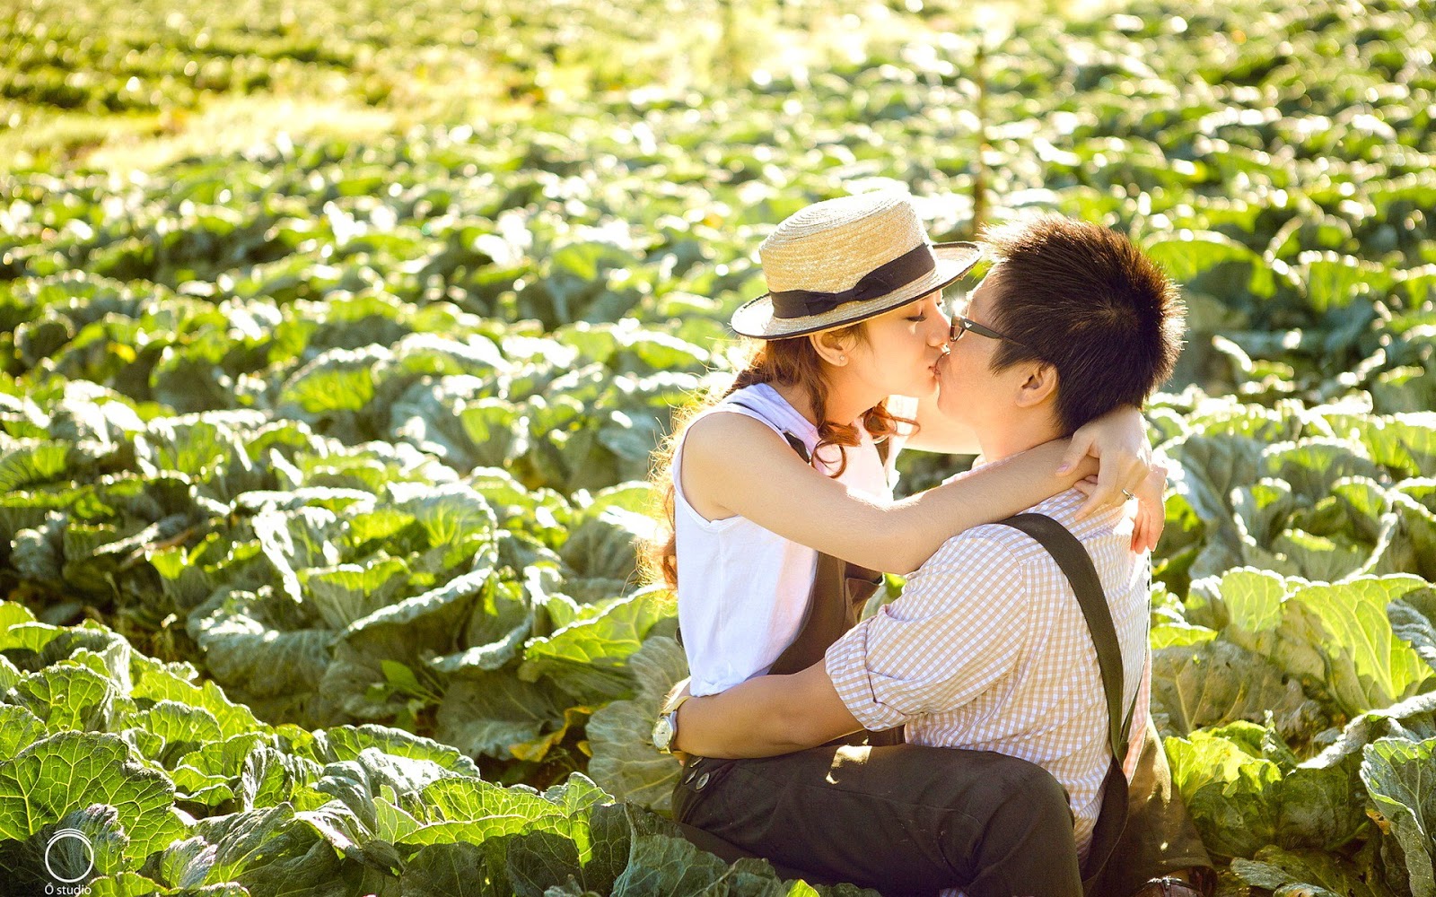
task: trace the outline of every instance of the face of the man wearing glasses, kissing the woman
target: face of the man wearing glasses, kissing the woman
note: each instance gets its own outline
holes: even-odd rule
[[[965,306],[954,309],[958,339],[948,343],[948,354],[938,365],[938,408],[978,433],[992,426],[999,415],[1011,415],[1021,365],[992,370],[992,356],[1001,340],[975,330],[962,330],[961,317],[984,327],[994,326],[994,309],[1001,301],[1002,266],[994,266],[982,283],[968,294]]]

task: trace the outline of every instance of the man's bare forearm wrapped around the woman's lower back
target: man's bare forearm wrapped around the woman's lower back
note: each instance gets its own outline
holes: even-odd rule
[[[774,756],[816,748],[863,726],[823,663],[791,676],[757,676],[678,708],[676,746],[699,756]]]

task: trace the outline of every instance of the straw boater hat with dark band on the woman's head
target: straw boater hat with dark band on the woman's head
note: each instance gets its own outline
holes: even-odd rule
[[[774,340],[852,324],[941,290],[981,255],[974,243],[929,243],[900,192],[816,202],[758,247],[768,293],[734,311],[732,329]]]

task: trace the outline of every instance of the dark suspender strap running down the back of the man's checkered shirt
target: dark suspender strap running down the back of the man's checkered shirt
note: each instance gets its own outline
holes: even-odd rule
[[[1117,629],[1111,624],[1111,610],[1107,607],[1107,596],[1101,588],[1101,578],[1091,563],[1091,555],[1087,554],[1077,537],[1067,531],[1067,527],[1051,517],[1018,514],[998,522],[1020,530],[1041,543],[1061,567],[1063,574],[1067,576],[1073,591],[1077,593],[1077,604],[1081,607],[1083,617],[1087,619],[1091,642],[1097,647],[1101,687],[1107,693],[1109,746],[1113,759],[1120,766],[1127,755],[1127,735],[1136,700],[1132,703],[1132,710],[1123,716],[1122,646],[1117,643]]]

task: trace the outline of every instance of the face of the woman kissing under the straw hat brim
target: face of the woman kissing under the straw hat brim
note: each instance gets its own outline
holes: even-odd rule
[[[939,290],[867,319],[867,342],[849,352],[852,375],[885,398],[932,396],[938,389],[933,366],[946,352],[948,324]]]

